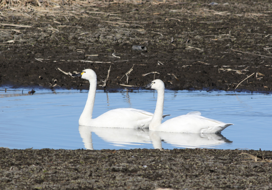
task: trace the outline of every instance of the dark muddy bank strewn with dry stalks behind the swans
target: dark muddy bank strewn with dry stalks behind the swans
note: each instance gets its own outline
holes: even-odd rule
[[[102,85],[111,67],[106,89],[162,79],[167,89],[231,91],[250,76],[238,90],[271,92],[270,1],[61,2],[2,10],[0,85],[88,89],[69,72],[91,68]]]

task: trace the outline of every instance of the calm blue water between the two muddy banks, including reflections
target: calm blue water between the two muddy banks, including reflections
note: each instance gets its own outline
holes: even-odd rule
[[[221,134],[151,132],[78,125],[87,90],[9,89],[0,87],[0,147],[53,149],[217,148],[272,151],[272,95],[246,92],[166,91],[164,120],[200,111],[202,116],[233,123]],[[154,112],[157,93],[96,92],[93,118],[132,107]],[[163,120],[163,121],[164,121]]]

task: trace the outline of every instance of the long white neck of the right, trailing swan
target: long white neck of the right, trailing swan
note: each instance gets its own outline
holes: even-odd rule
[[[164,112],[164,88],[157,90],[158,98],[154,115],[149,123],[149,130],[154,131],[161,124],[162,115]]]

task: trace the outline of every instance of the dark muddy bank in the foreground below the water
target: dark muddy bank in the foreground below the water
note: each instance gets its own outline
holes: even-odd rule
[[[1,189],[271,189],[271,151],[0,148]]]

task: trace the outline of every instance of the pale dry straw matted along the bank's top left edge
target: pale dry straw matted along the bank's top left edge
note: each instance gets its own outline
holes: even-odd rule
[[[152,4],[176,1],[152,1]],[[141,4],[141,0],[4,0],[0,1],[2,17],[74,16],[85,17],[84,8],[105,7],[111,4]]]

